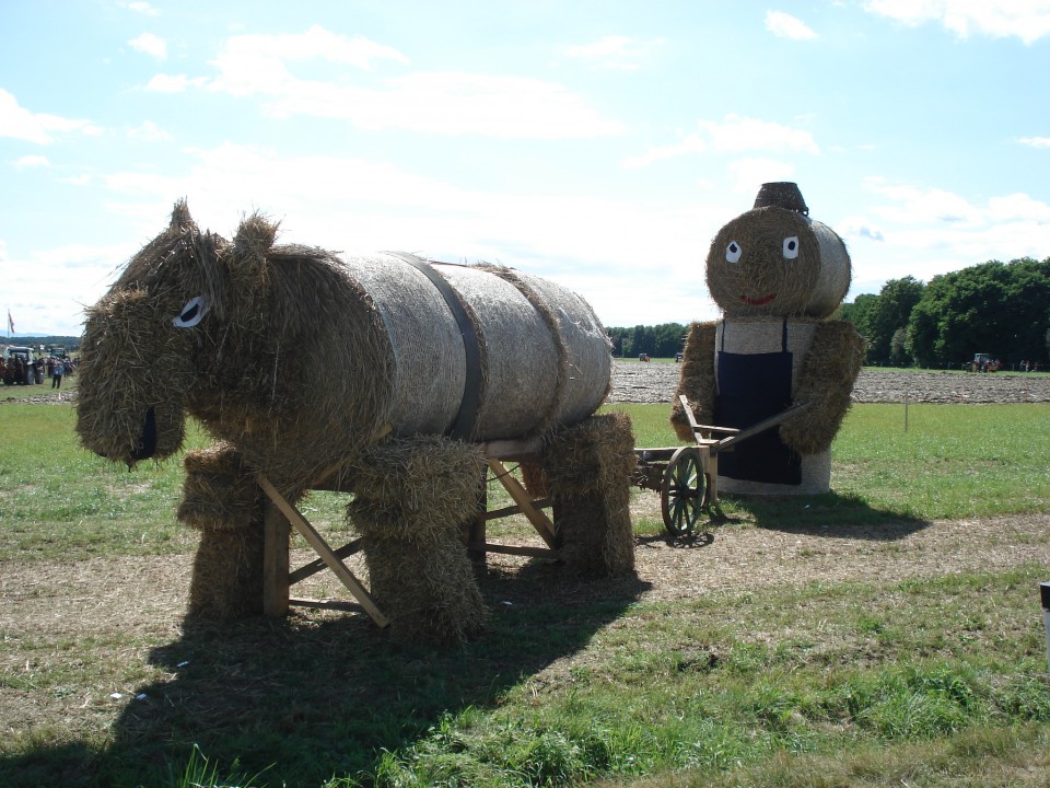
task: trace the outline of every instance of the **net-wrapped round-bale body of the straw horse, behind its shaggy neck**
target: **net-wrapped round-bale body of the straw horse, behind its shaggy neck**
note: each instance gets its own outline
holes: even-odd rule
[[[411,255],[353,257],[345,265],[389,338],[395,379],[388,420],[398,436],[447,433],[465,399],[468,406],[472,399],[472,425],[457,437],[517,438],[586,417],[609,391],[608,337],[586,302],[559,285]],[[428,268],[452,288],[469,325],[457,322]],[[478,370],[470,368],[469,334]]]

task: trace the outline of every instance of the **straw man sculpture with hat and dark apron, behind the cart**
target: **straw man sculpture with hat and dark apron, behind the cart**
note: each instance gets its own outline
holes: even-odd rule
[[[864,349],[852,323],[829,320],[850,287],[845,244],[808,217],[795,184],[765,184],[754,209],[712,241],[707,282],[723,317],[690,326],[678,382],[697,420],[744,428],[808,404],[779,428],[720,454],[719,488],[827,493],[831,441]],[[672,424],[692,440],[680,404]]]

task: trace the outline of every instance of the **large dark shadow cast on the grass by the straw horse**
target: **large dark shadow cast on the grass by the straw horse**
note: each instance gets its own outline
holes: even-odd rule
[[[487,630],[445,649],[393,644],[357,613],[187,622],[150,654],[171,679],[136,691],[112,745],[0,761],[0,772],[31,779],[4,785],[177,786],[195,744],[219,775],[261,772],[254,786],[320,786],[334,775],[366,785],[384,750],[497,704],[583,648],[648,588],[634,576],[584,581],[541,563],[490,568],[479,582]]]

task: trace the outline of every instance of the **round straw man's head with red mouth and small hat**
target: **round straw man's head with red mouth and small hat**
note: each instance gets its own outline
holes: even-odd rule
[[[821,318],[850,288],[850,255],[831,228],[808,217],[795,184],[765,184],[755,207],[711,242],[707,281],[727,317]]]

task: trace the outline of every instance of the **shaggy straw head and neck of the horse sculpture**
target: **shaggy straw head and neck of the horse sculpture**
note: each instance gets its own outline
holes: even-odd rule
[[[129,466],[164,459],[187,413],[254,463],[368,439],[389,379],[374,310],[334,255],[276,236],[253,215],[226,241],[175,205],[86,312],[77,431],[88,449]],[[326,436],[335,425],[340,439]]]

